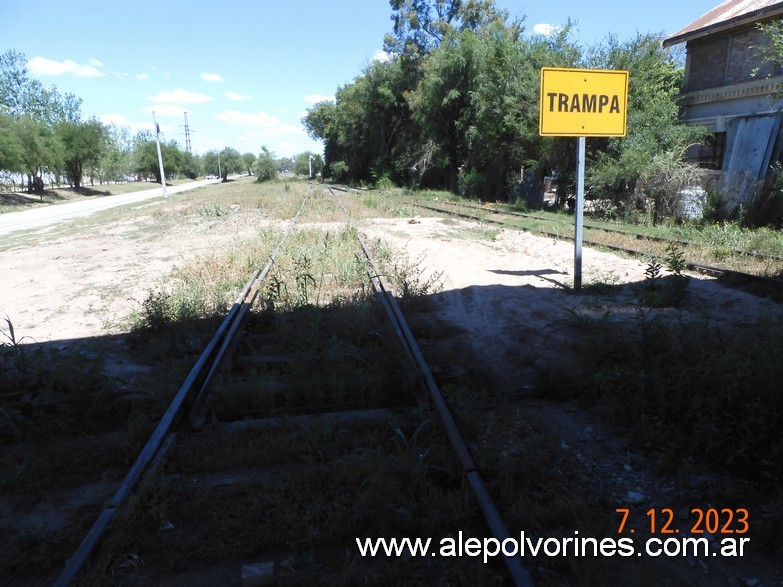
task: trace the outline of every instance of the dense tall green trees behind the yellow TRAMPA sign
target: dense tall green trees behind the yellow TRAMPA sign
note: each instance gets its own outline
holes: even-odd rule
[[[538,134],[542,67],[630,72],[627,136],[588,140],[595,197],[628,202],[693,171],[702,131],[678,122],[682,59],[654,35],[587,48],[569,24],[526,34],[493,0],[390,0],[387,60],[368,65],[302,119],[324,141],[324,174],[341,181],[446,188],[487,199],[571,193],[575,139]],[[690,179],[690,178],[689,178]]]

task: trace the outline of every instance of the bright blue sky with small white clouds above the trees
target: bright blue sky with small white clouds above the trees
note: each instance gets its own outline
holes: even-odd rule
[[[496,0],[526,31],[576,23],[591,45],[614,34],[671,34],[720,0]],[[321,152],[300,119],[369,64],[391,31],[388,0],[0,0],[0,53],[83,99],[85,116],[152,128],[193,150]],[[545,27],[544,27],[545,28]]]

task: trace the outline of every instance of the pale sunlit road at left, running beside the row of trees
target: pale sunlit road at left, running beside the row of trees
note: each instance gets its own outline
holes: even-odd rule
[[[177,192],[192,190],[215,182],[216,180],[194,181],[177,186],[167,186],[166,191],[168,194],[176,194]],[[89,216],[93,212],[98,212],[99,210],[107,210],[126,204],[135,204],[137,202],[143,202],[144,200],[150,200],[152,198],[160,198],[162,196],[163,188],[155,188],[141,192],[132,192],[130,194],[120,194],[117,196],[94,196],[78,202],[54,204],[51,206],[31,208],[30,210],[22,210],[21,212],[0,214],[0,237],[20,230],[40,228],[71,218]]]

